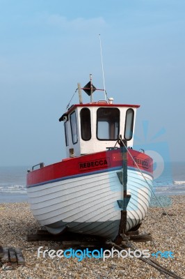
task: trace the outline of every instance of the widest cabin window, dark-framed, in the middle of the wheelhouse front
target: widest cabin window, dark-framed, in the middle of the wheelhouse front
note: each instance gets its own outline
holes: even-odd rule
[[[120,110],[101,107],[97,110],[97,139],[117,140],[120,133]]]

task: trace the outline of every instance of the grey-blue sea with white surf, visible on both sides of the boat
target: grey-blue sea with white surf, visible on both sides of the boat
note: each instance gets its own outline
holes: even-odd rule
[[[0,167],[0,203],[26,202],[26,173],[29,167]],[[185,195],[185,162],[165,163],[157,166],[154,195]],[[160,175],[159,175],[160,174]]]

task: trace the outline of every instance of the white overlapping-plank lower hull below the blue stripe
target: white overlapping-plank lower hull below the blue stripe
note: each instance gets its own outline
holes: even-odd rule
[[[123,186],[118,170],[84,175],[27,188],[31,211],[40,225],[57,234],[67,225],[69,231],[115,239],[118,236]],[[127,231],[145,218],[150,203],[152,176],[128,169]]]

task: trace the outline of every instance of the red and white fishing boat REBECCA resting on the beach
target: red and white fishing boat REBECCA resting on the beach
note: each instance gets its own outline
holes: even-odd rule
[[[28,171],[26,188],[33,216],[51,234],[66,231],[116,241],[140,227],[150,204],[152,158],[133,149],[139,105],[115,104],[90,96],[61,116],[67,156]]]

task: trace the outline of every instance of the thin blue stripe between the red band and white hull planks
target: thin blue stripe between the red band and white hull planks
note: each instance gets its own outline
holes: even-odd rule
[[[67,179],[75,179],[77,177],[88,176],[88,175],[92,175],[92,174],[101,174],[103,172],[112,172],[112,171],[119,170],[119,169],[122,169],[122,167],[111,167],[110,169],[103,169],[103,170],[98,170],[95,172],[88,172],[86,174],[76,174],[76,175],[72,175],[72,176],[65,176],[65,177],[61,177],[60,179],[52,179],[52,180],[45,181],[42,183],[29,185],[29,186],[26,186],[26,188],[32,188],[32,187],[41,186],[41,185],[45,185],[45,184],[49,184],[49,183],[55,183],[55,182],[63,181],[63,180],[67,180]],[[128,169],[134,170],[135,172],[136,171],[139,172],[139,169],[136,167],[128,167]],[[152,174],[150,172],[146,172],[144,170],[142,172],[143,172],[143,174],[149,174],[150,176],[152,176]]]

